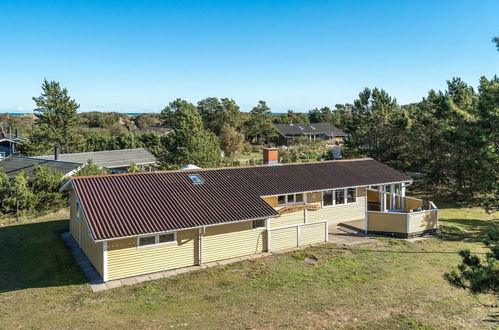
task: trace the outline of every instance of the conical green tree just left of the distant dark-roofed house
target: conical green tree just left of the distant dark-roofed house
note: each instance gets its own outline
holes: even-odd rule
[[[277,137],[277,131],[272,125],[272,112],[265,101],[259,101],[251,110],[250,118],[246,122],[246,135],[256,143],[268,142]]]

